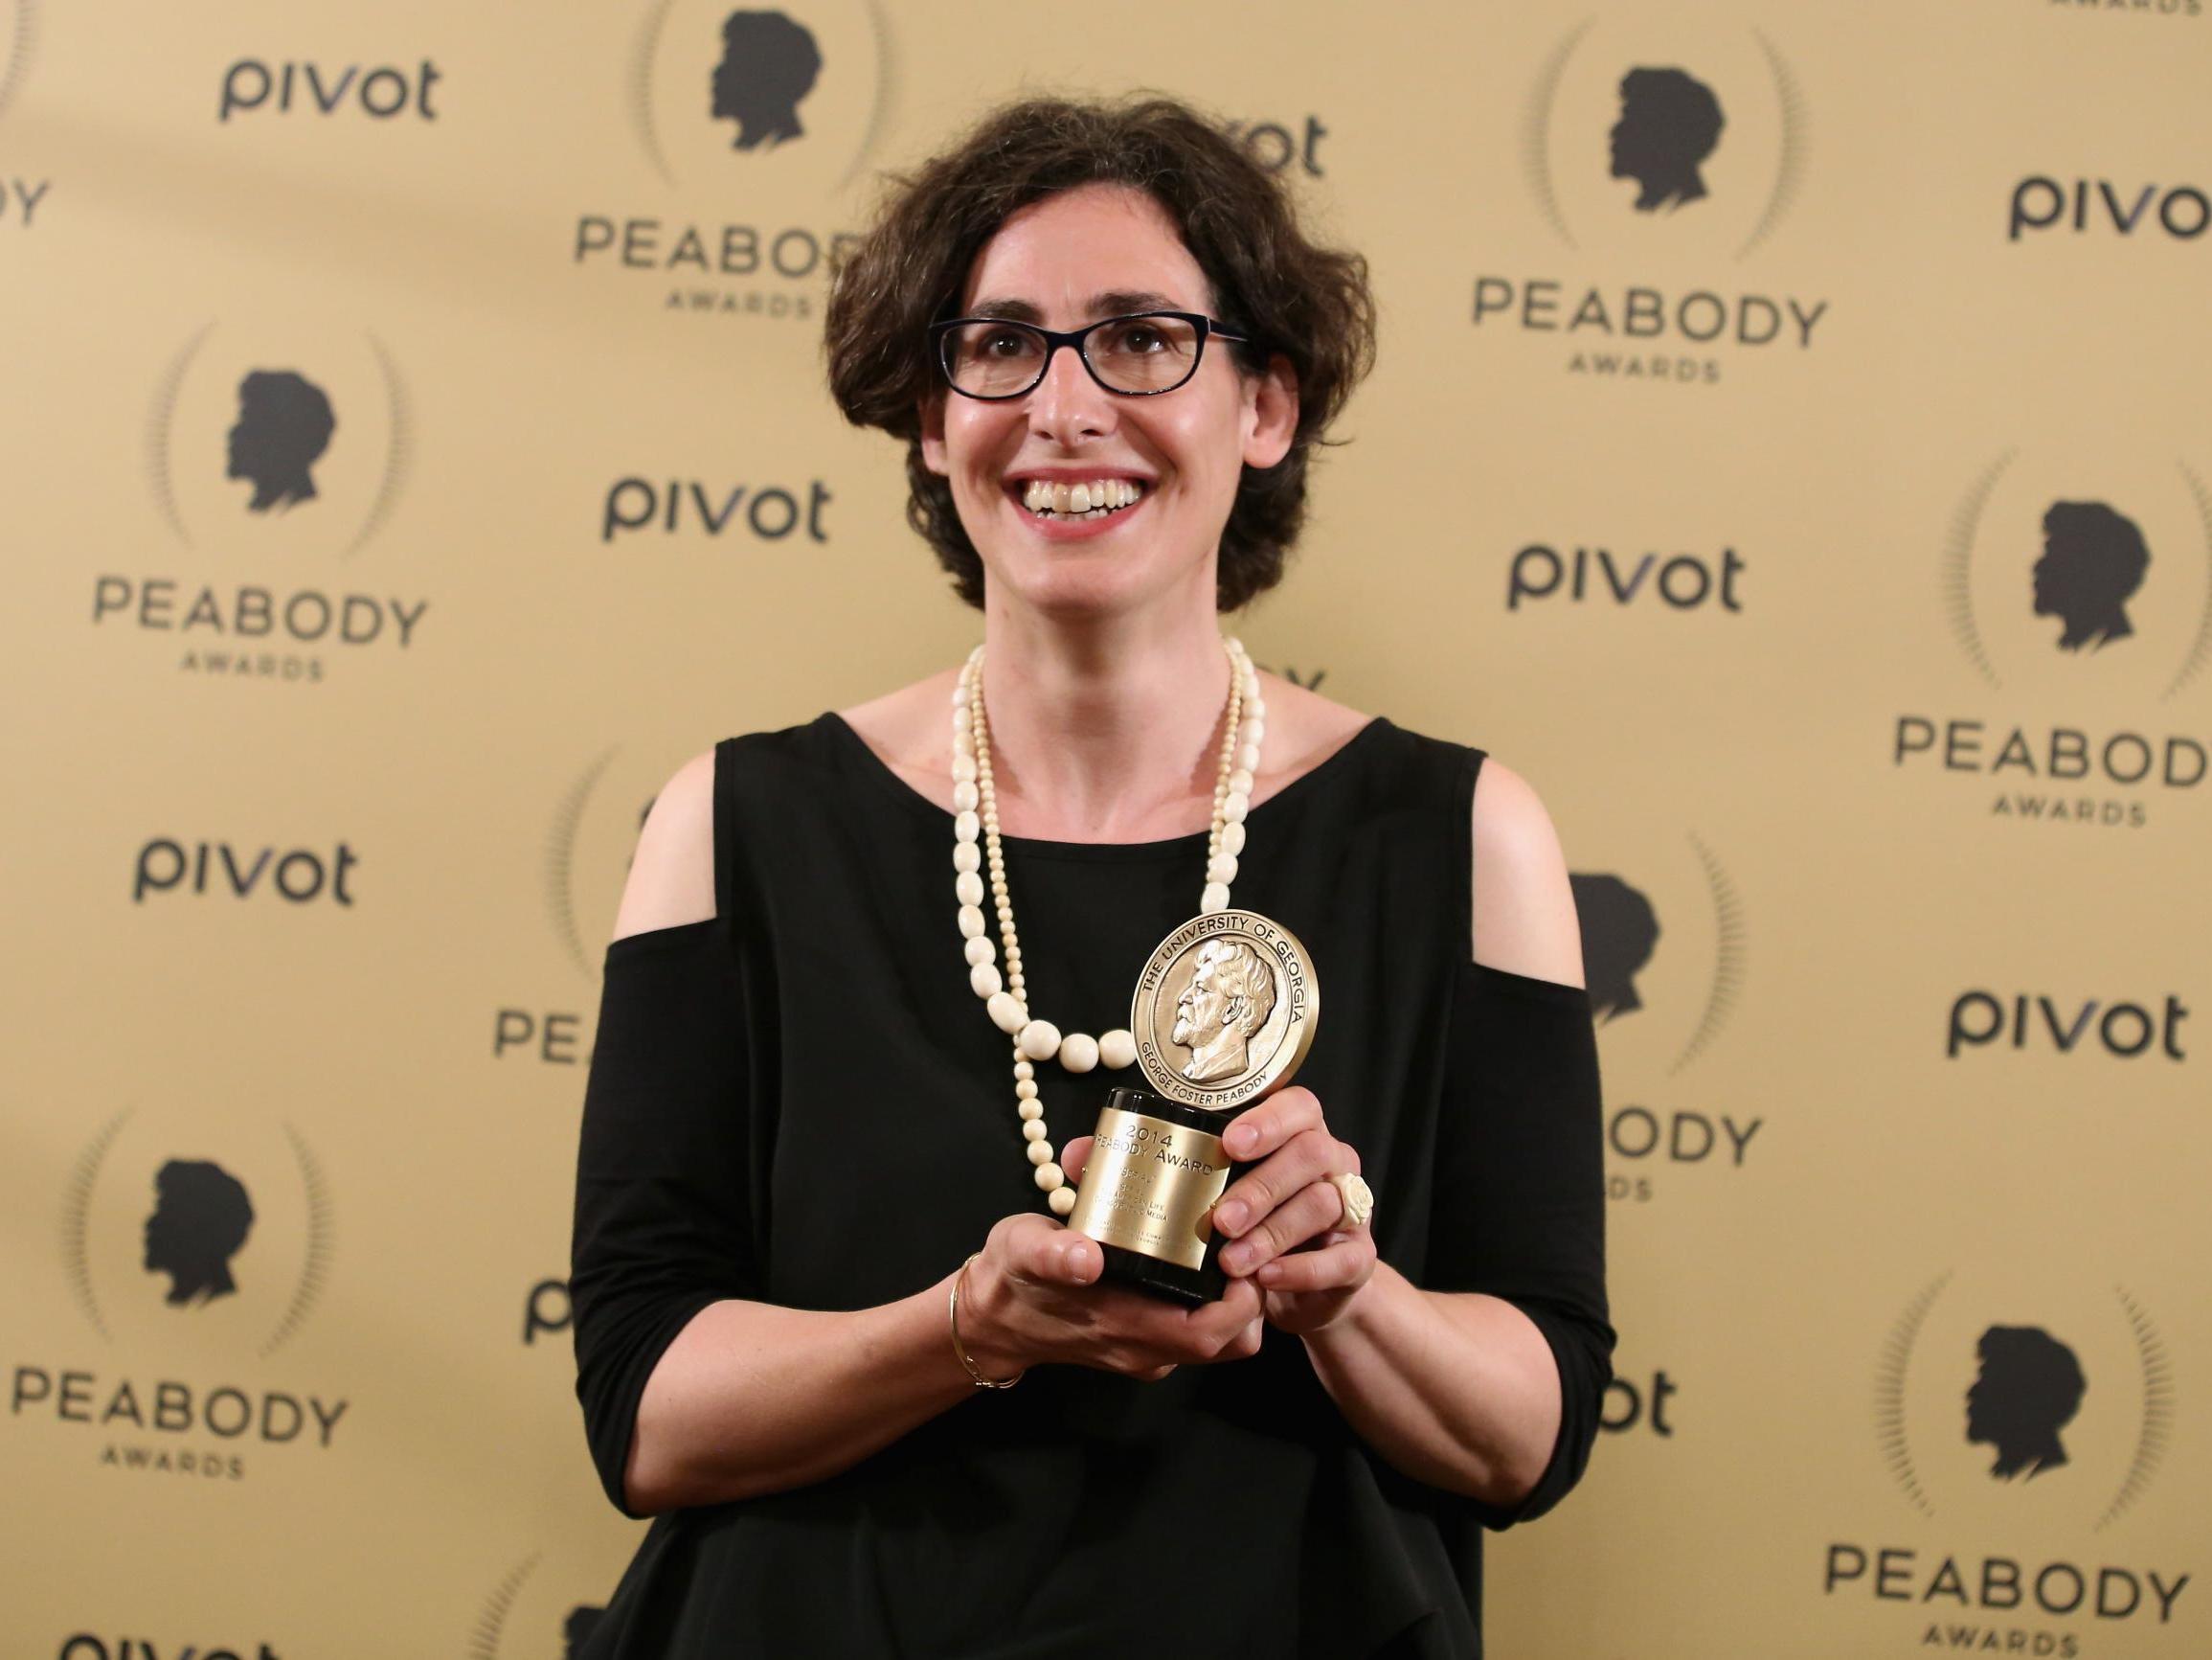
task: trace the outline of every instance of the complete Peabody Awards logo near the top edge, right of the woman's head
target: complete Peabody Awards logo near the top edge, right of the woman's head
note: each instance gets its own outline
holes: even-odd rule
[[[1827,301],[1721,279],[1783,224],[1805,170],[1805,102],[1763,33],[1588,20],[1535,73],[1522,170],[1571,252],[1613,272],[1475,277],[1486,334],[1546,336],[1568,374],[1714,383],[1723,365],[1823,339]]]

